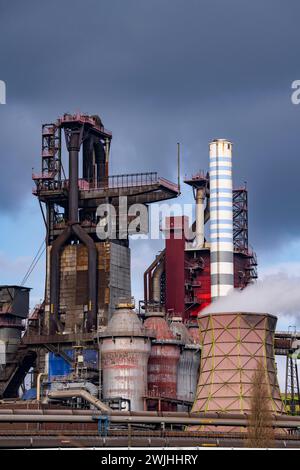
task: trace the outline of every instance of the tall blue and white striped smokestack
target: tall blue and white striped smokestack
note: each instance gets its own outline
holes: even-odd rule
[[[216,139],[209,144],[210,263],[212,301],[234,287],[232,143]]]

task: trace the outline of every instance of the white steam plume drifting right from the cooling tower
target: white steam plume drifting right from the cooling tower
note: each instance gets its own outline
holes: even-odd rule
[[[270,313],[278,317],[294,317],[300,321],[300,277],[286,274],[266,276],[243,291],[235,289],[203,310],[218,312]]]

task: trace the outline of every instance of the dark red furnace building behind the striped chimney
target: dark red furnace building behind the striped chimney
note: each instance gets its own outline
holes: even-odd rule
[[[186,180],[196,190],[206,192],[204,222],[209,221],[209,177],[200,173]],[[248,242],[248,192],[233,190],[234,287],[245,288],[257,278],[256,255]],[[196,320],[198,313],[211,303],[210,243],[204,239],[195,247],[187,238],[190,221],[186,216],[165,220],[165,249],[144,274],[144,297],[148,304],[160,304],[170,315],[185,321]],[[192,228],[195,229],[196,222]]]

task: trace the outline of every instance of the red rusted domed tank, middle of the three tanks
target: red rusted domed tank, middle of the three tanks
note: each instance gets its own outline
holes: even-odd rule
[[[162,398],[162,411],[176,411],[176,403],[172,399],[177,399],[180,341],[171,332],[163,312],[148,312],[144,326],[156,334],[148,363],[148,395]],[[157,405],[157,400],[149,402],[151,409],[157,408]]]

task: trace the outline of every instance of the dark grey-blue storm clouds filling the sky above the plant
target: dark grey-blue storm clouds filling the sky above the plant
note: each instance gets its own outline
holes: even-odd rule
[[[254,243],[296,237],[299,13],[297,0],[0,1],[0,209],[30,197],[41,123],[80,109],[112,129],[114,173],[175,178],[177,140],[189,173],[210,139],[232,139]]]

